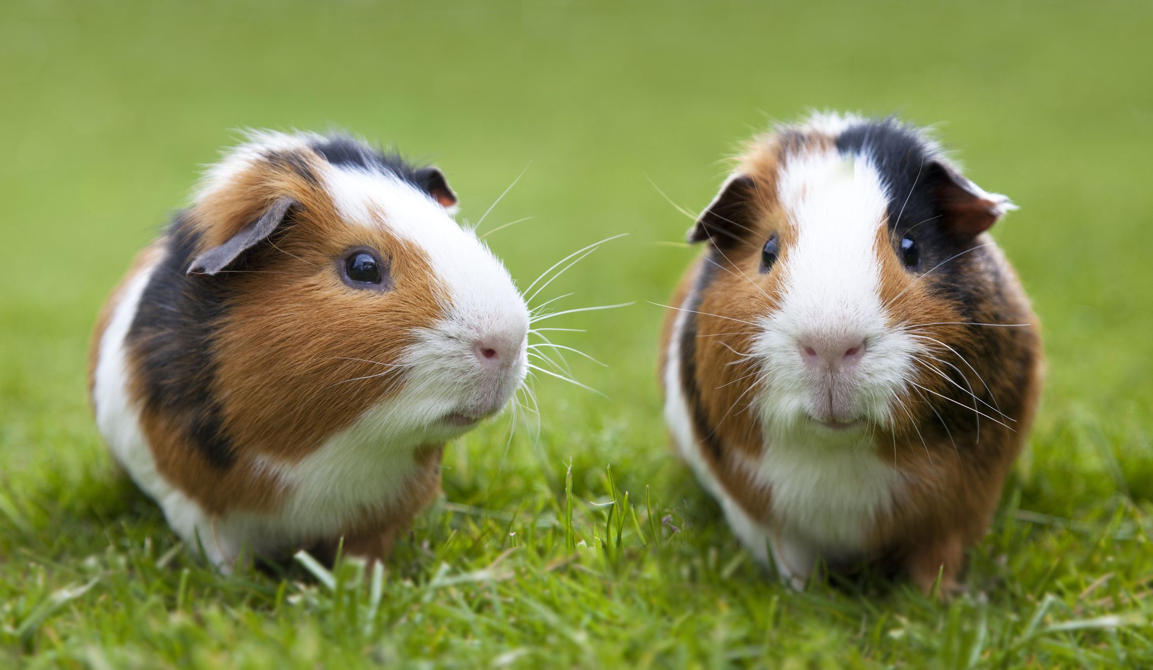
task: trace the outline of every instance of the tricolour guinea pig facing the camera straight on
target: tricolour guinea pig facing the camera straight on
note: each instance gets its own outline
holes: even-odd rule
[[[895,119],[753,140],[688,233],[664,415],[740,542],[958,586],[1038,404],[1037,318],[986,232],[1016,209]]]

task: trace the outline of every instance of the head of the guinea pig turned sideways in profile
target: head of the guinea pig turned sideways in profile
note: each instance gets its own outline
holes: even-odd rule
[[[210,168],[176,243],[219,306],[213,393],[236,442],[303,449],[362,417],[443,441],[508,402],[528,310],[455,205],[438,170],[345,136],[254,133]]]

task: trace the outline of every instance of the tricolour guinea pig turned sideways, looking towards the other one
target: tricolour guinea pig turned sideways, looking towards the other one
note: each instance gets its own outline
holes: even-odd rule
[[[333,135],[257,131],[136,257],[89,383],[116,461],[189,545],[387,555],[446,441],[527,370],[528,309],[444,175]]]

